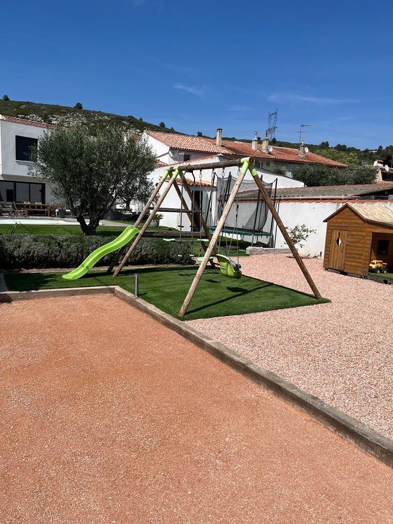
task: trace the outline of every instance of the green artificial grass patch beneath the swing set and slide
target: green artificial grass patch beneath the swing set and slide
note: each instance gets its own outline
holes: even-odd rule
[[[4,277],[10,291],[117,285],[133,293],[135,272],[139,274],[139,296],[178,318],[195,276],[195,266],[127,269],[116,278],[106,275],[105,271],[91,271],[79,280],[64,280],[61,278],[63,272],[8,273]],[[182,320],[296,308],[324,302],[329,300],[317,300],[307,293],[246,276],[238,280],[227,278],[219,270],[206,268]]]

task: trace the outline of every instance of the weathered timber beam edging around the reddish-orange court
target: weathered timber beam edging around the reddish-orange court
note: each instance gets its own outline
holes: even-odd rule
[[[119,286],[42,289],[24,292],[3,291],[0,292],[0,302],[101,293],[114,293],[116,297],[149,314],[152,318],[158,320],[202,350],[210,353],[236,372],[252,380],[258,386],[307,413],[314,420],[321,422],[325,427],[343,436],[369,455],[393,468],[393,440],[369,428],[363,422],[350,417],[343,411],[330,406],[318,397],[310,395],[278,375],[271,373],[268,369],[257,366],[252,361],[231,350],[225,344],[211,339],[208,335],[195,330],[188,324],[156,308],[155,305],[141,298],[134,298],[132,293]]]

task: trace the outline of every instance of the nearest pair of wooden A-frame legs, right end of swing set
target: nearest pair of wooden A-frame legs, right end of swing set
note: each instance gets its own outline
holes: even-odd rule
[[[219,223],[217,224],[217,227],[213,233],[213,236],[211,238],[211,241],[210,241],[210,244],[209,244],[209,247],[208,249],[206,249],[206,253],[203,257],[203,261],[201,263],[201,265],[199,266],[198,268],[198,271],[196,272],[196,275],[194,277],[194,280],[191,284],[191,287],[187,293],[187,297],[185,297],[184,299],[184,302],[183,302],[183,305],[179,311],[179,316],[184,316],[185,313],[187,312],[188,308],[189,308],[189,305],[190,305],[190,302],[192,300],[192,297],[194,296],[194,293],[196,291],[196,288],[198,287],[198,284],[202,278],[202,275],[203,275],[203,271],[205,270],[206,268],[206,265],[208,264],[208,260],[212,254],[212,251],[213,251],[213,246],[215,246],[216,242],[217,242],[217,239],[219,238],[220,236],[220,233],[221,233],[221,230],[222,228],[224,227],[224,224],[225,224],[225,220],[226,220],[226,217],[228,216],[229,212],[231,211],[231,207],[232,207],[232,204],[236,198],[236,195],[240,189],[240,185],[241,183],[243,182],[243,179],[247,173],[247,170],[249,169],[252,176],[254,177],[254,180],[255,180],[255,183],[257,184],[258,186],[258,189],[260,190],[261,194],[263,195],[265,201],[266,201],[266,204],[272,214],[272,216],[274,217],[278,227],[279,227],[279,230],[281,231],[281,234],[282,236],[285,238],[285,241],[287,242],[288,244],[288,247],[290,248],[292,254],[293,254],[293,257],[296,259],[305,279],[307,280],[307,282],[309,283],[313,293],[314,293],[314,296],[316,299],[320,299],[322,298],[321,297],[321,294],[320,292],[318,291],[318,288],[315,286],[315,283],[314,281],[312,280],[311,278],[311,275],[309,274],[307,268],[305,267],[304,263],[303,263],[303,260],[301,259],[299,253],[297,252],[297,249],[296,247],[293,245],[293,242],[292,242],[292,239],[291,237],[289,236],[288,234],[288,231],[286,230],[285,228],[285,225],[282,223],[281,219],[280,219],[280,216],[279,214],[277,213],[274,205],[272,204],[271,200],[270,200],[270,196],[268,194],[268,192],[266,191],[266,188],[263,184],[263,182],[261,182],[261,180],[259,179],[258,177],[258,173],[256,171],[256,169],[254,168],[254,158],[252,157],[249,157],[249,158],[242,158],[241,160],[241,164],[242,164],[242,169],[241,169],[241,172],[239,174],[239,177],[237,178],[236,180],[236,183],[231,191],[231,194],[228,198],[228,201],[225,205],[225,208],[223,210],[223,213],[221,215],[221,218],[219,220]]]

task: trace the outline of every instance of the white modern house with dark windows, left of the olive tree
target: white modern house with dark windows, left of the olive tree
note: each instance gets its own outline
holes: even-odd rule
[[[30,147],[37,145],[46,129],[54,126],[0,115],[0,201],[47,203],[52,198],[48,183],[28,174]]]

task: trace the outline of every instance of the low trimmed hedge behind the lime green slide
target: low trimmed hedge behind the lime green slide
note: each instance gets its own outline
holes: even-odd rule
[[[0,235],[0,268],[40,269],[77,267],[97,247],[113,237],[76,235]],[[179,253],[182,255],[179,257]],[[109,265],[114,254],[99,265]],[[164,242],[161,238],[143,238],[129,258],[130,265],[190,264],[190,244]]]

